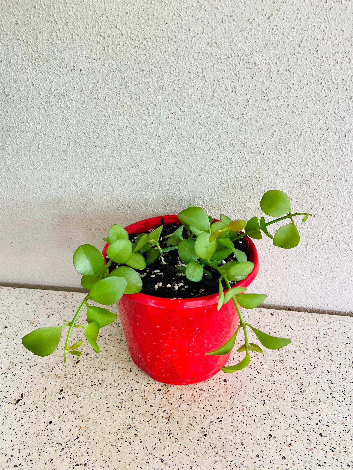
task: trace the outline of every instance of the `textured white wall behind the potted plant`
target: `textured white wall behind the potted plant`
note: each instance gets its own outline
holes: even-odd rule
[[[268,305],[349,311],[352,1],[4,0],[0,281],[80,286],[72,252],[194,203],[260,215]]]

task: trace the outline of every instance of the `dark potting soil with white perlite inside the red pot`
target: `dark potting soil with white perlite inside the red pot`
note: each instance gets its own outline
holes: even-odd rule
[[[172,234],[180,227],[180,224],[164,225],[164,220],[161,218],[160,225],[163,225],[163,230],[160,234],[160,248],[166,248],[168,239],[164,237]],[[149,231],[152,232],[152,230]],[[134,242],[137,235],[138,234],[129,235],[129,240]],[[183,237],[187,238],[185,228],[183,230]],[[239,239],[235,240],[233,243],[235,248],[243,251],[247,255],[249,261],[248,245],[245,241]],[[109,261],[109,258],[106,259]],[[233,253],[229,255],[228,258],[225,258],[225,262],[233,260]],[[200,282],[192,282],[185,277],[185,274],[176,271],[176,266],[180,265],[186,266],[179,258],[178,251],[172,250],[162,253],[159,260],[146,266],[145,269],[136,269],[142,279],[141,293],[163,298],[194,298],[218,292],[219,273],[216,269],[211,266],[204,266],[204,269],[211,274],[212,279],[204,274]],[[112,272],[117,266],[119,265],[112,263],[109,266],[109,271]],[[230,282],[230,284],[233,286],[236,282]]]

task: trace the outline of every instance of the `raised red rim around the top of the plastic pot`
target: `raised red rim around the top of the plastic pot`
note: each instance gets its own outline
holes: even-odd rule
[[[170,214],[170,215],[161,215],[158,217],[151,217],[149,219],[139,220],[138,222],[134,222],[128,225],[127,227],[125,227],[125,229],[128,232],[128,234],[131,234],[134,232],[142,233],[144,230],[149,230],[150,228],[156,228],[160,224],[161,218],[164,219],[166,225],[169,223],[173,223],[173,222],[180,223],[176,214]],[[214,219],[214,220],[217,221],[217,219]],[[136,227],[136,226],[139,226],[139,227]],[[144,228],[144,226],[148,226],[148,228],[147,227]],[[138,230],[140,229],[141,231],[138,232]],[[251,273],[247,275],[245,279],[236,283],[237,287],[248,287],[249,284],[253,282],[255,277],[257,276],[259,266],[260,266],[255,244],[253,243],[251,238],[249,238],[248,236],[244,237],[244,241],[248,245],[250,261],[254,263],[254,268],[251,271]],[[104,265],[106,264],[105,256],[106,256],[107,247],[108,247],[108,243],[105,243],[103,251],[102,251],[102,255],[104,257]],[[225,290],[225,292],[226,291],[227,290]],[[136,294],[124,294],[123,297],[133,300],[134,302],[137,302],[139,304],[151,305],[155,307],[164,307],[164,308],[200,307],[200,306],[208,306],[208,305],[217,304],[218,302],[217,292],[215,292],[214,294],[209,294],[209,295],[198,297],[198,298],[155,297],[155,296],[151,296],[147,294],[142,294],[141,292],[137,292]]]

